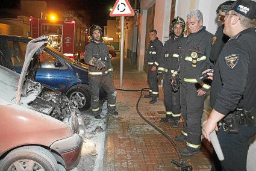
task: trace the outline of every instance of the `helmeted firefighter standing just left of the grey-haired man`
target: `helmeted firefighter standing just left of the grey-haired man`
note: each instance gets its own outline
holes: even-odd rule
[[[164,106],[166,108],[166,117],[161,118],[161,122],[173,121],[173,127],[178,126],[178,120],[181,117],[180,90],[173,91],[171,80],[175,74],[178,74],[179,56],[184,50],[182,46],[183,31],[185,21],[181,17],[175,17],[170,25],[170,39],[164,43],[163,51],[158,67],[158,79],[163,79]]]

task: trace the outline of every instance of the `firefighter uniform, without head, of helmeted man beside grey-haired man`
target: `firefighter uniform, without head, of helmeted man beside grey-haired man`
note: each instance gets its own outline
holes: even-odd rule
[[[179,70],[179,57],[183,52],[183,42],[185,37],[181,34],[180,37],[170,37],[166,43],[164,43],[163,51],[160,60],[160,66],[158,67],[158,73],[164,73],[163,79],[163,92],[164,92],[164,106],[166,108],[166,118],[168,121],[178,121],[181,117],[180,107],[180,90],[173,92],[172,90],[172,78],[178,73]],[[166,122],[161,119],[162,122]]]

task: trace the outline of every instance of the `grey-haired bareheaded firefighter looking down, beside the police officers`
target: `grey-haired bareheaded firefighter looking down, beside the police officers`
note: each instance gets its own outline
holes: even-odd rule
[[[204,99],[210,85],[195,79],[202,71],[210,68],[209,55],[213,34],[202,25],[201,11],[192,10],[187,14],[187,26],[190,34],[180,64],[181,78],[181,113],[183,114],[183,132],[176,135],[178,141],[186,141],[184,156],[191,156],[201,151],[201,118],[204,111]]]

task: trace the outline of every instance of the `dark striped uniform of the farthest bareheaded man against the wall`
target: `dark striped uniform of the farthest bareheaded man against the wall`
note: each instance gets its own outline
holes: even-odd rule
[[[152,71],[152,67],[158,67],[160,63],[161,51],[163,48],[163,43],[158,40],[158,37],[155,40],[149,42],[149,48],[146,50],[146,64],[148,64],[148,84],[149,84],[149,95],[152,99],[159,96],[158,93],[158,79],[157,79],[157,70]]]

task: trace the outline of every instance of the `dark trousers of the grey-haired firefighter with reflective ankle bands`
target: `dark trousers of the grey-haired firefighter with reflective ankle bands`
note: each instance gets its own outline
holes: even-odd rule
[[[183,114],[183,134],[187,135],[187,149],[201,148],[201,118],[204,111],[205,95],[198,96],[195,83],[181,83],[181,113]]]

